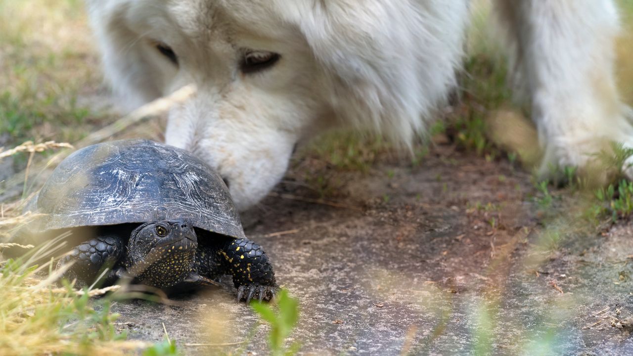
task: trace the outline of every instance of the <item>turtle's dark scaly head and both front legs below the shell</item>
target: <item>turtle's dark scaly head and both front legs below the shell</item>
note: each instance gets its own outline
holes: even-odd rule
[[[167,231],[165,236],[158,236],[159,226]],[[60,260],[58,268],[75,261],[65,276],[77,279],[79,286],[94,281],[106,267],[113,267],[106,284],[115,283],[120,277],[132,277],[172,291],[216,285],[214,279],[230,274],[238,301],[248,303],[251,298],[261,301],[275,296],[278,286],[272,265],[254,241],[213,236],[205,241],[216,242],[215,245],[198,245],[194,229],[183,220],[147,222],[131,234],[125,229],[119,229],[118,235],[116,231],[114,227],[108,234],[75,247]],[[127,248],[123,248],[126,239]]]

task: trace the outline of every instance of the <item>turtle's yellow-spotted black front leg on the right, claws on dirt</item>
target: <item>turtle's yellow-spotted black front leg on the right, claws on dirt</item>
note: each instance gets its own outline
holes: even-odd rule
[[[258,243],[249,239],[234,239],[218,250],[226,274],[233,276],[237,301],[251,298],[270,300],[275,296],[277,283],[268,256]]]

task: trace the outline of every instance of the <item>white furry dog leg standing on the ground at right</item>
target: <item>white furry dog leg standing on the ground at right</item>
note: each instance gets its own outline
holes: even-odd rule
[[[614,1],[497,0],[497,5],[517,40],[517,61],[544,150],[539,173],[575,166],[604,182],[597,154],[610,151],[612,141],[633,147],[630,111],[618,98],[614,77],[619,30]]]

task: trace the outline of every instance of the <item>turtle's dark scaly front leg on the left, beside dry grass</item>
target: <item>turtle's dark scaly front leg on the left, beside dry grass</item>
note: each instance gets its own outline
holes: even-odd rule
[[[70,281],[77,279],[76,286],[82,288],[94,283],[103,269],[113,267],[122,255],[123,242],[118,236],[97,236],[73,248],[69,255],[58,261],[56,268],[60,269],[63,265],[74,262],[66,270],[64,277]],[[114,273],[108,274],[106,284],[113,283],[113,276]]]

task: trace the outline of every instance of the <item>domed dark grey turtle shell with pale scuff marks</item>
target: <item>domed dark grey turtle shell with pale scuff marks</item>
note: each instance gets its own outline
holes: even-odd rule
[[[33,205],[36,231],[187,219],[243,238],[229,190],[215,170],[183,149],[148,140],[94,144],[53,171]]]

